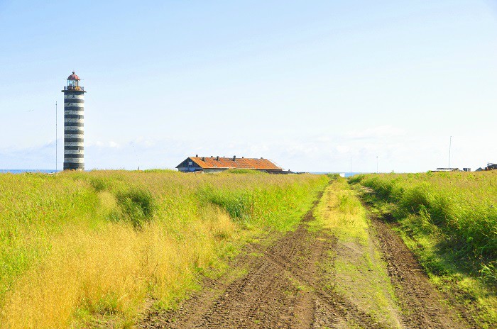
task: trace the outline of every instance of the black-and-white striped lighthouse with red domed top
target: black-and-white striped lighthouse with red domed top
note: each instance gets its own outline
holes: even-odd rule
[[[64,170],[84,170],[84,88],[75,72],[64,93]]]

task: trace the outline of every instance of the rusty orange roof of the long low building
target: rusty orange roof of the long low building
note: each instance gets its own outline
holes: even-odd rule
[[[202,169],[237,168],[237,169],[273,169],[283,170],[267,159],[251,159],[249,157],[190,157]],[[219,160],[218,160],[219,159]]]

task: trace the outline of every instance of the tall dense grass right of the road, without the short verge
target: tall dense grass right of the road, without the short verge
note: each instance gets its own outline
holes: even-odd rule
[[[361,175],[351,182],[397,204],[396,217],[422,214],[459,250],[496,265],[497,172]]]

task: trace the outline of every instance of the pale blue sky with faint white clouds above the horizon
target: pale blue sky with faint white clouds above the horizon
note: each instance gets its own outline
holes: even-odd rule
[[[0,169],[62,168],[72,71],[85,169],[497,162],[497,0],[0,0]]]

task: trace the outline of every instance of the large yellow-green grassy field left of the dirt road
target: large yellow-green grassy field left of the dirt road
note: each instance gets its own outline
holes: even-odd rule
[[[128,328],[290,230],[328,178],[252,172],[0,175],[0,328]]]

